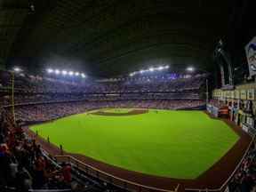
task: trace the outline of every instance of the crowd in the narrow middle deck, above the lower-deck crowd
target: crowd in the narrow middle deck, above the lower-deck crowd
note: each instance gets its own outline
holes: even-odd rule
[[[63,101],[85,100],[198,100],[198,92],[173,92],[173,93],[115,93],[115,94],[15,94],[14,104],[40,104]],[[1,106],[12,105],[12,95],[0,96]]]

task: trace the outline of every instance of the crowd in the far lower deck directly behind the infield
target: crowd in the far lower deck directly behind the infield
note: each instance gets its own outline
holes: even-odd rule
[[[16,119],[20,122],[43,122],[62,116],[84,113],[94,108],[198,108],[203,100],[115,100],[115,101],[74,101],[52,104],[24,105],[15,108]]]

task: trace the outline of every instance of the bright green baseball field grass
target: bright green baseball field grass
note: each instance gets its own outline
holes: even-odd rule
[[[106,109],[124,113],[123,109]],[[103,111],[100,109],[100,111]],[[196,179],[239,137],[201,111],[149,110],[136,116],[68,116],[31,129],[64,150],[127,170]]]

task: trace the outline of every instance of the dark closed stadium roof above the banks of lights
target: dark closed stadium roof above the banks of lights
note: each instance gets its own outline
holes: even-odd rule
[[[211,69],[229,12],[223,0],[0,0],[0,58],[93,76],[158,64]]]

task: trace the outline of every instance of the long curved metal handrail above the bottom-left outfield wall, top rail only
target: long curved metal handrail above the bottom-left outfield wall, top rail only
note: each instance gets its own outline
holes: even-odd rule
[[[85,167],[88,167],[88,168],[92,169],[93,171],[100,172],[100,173],[102,173],[102,174],[104,174],[104,175],[106,175],[108,177],[111,177],[112,179],[115,179],[115,180],[118,180],[118,181],[122,181],[122,182],[127,183],[127,184],[131,184],[132,186],[135,186],[135,187],[138,187],[138,188],[146,188],[146,189],[149,189],[149,190],[156,190],[156,191],[161,191],[161,192],[177,192],[178,189],[180,188],[180,184],[178,184],[177,187],[174,190],[168,190],[168,189],[164,189],[164,188],[155,188],[155,187],[150,187],[150,186],[142,185],[140,183],[136,183],[136,182],[133,182],[131,180],[124,180],[122,178],[116,177],[116,176],[114,176],[114,175],[112,175],[112,174],[110,174],[108,172],[103,172],[100,169],[95,168],[95,167],[93,167],[90,164],[85,164],[84,162],[76,159],[74,156],[67,156],[67,155],[66,156],[55,156],[57,161],[58,161],[58,158],[63,158],[63,157],[64,158],[68,157],[69,162],[71,162],[70,159],[72,159],[74,162],[76,162],[78,164],[83,164]]]

